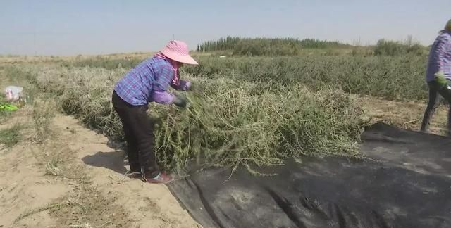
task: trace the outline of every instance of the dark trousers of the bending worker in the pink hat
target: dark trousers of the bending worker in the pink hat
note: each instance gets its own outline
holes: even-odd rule
[[[147,116],[147,106],[132,106],[113,91],[113,107],[121,118],[128,146],[128,163],[131,172],[144,172],[154,177],[159,169],[154,151],[154,126]]]

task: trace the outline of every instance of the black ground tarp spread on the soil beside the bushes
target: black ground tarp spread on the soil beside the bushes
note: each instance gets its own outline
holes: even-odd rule
[[[259,169],[272,177],[216,168],[169,188],[203,227],[451,227],[451,140],[383,124],[362,139],[380,162],[304,158]]]

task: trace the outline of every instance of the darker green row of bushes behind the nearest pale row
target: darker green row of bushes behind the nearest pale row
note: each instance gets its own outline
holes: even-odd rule
[[[426,99],[426,56],[296,56],[296,57],[198,57],[199,65],[185,65],[184,72],[209,78],[228,77],[247,82],[299,82],[310,89],[325,86],[347,93],[385,99]],[[67,62],[65,67],[95,67],[113,70],[132,68],[141,59],[92,58]]]

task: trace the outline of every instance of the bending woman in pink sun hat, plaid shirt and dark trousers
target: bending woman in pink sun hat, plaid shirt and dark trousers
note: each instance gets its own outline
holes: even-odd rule
[[[180,80],[178,69],[183,63],[198,63],[189,55],[185,42],[171,41],[166,47],[130,70],[113,90],[112,103],[123,125],[128,146],[131,178],[144,182],[171,182],[173,178],[159,170],[154,151],[154,129],[147,116],[148,103],[156,102],[185,108],[187,99],[168,92],[171,86],[187,91],[191,83]]]

